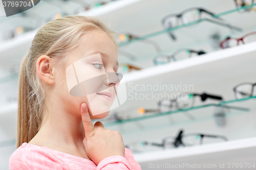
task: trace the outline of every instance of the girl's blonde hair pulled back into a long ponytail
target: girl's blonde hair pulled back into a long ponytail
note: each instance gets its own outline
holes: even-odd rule
[[[29,52],[20,65],[16,148],[29,142],[42,123],[45,92],[36,72],[37,59],[41,55],[47,55],[63,61],[63,54],[76,47],[81,36],[96,29],[108,34],[117,46],[116,33],[96,17],[65,16],[49,21],[37,31]]]

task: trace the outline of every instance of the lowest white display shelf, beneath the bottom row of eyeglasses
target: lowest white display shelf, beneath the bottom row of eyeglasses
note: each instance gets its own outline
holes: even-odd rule
[[[249,149],[249,150],[248,150]],[[245,139],[237,139],[237,140],[230,140],[225,142],[218,142],[218,143],[209,143],[209,144],[202,144],[193,147],[184,147],[184,148],[175,148],[172,150],[163,150],[157,152],[147,152],[147,153],[140,153],[140,154],[133,154],[136,161],[139,163],[144,162],[153,162],[153,161],[160,161],[160,160],[170,160],[174,158],[184,158],[184,157],[191,157],[197,155],[204,155],[209,160],[217,159],[218,156],[228,154],[232,151],[236,152],[236,155],[231,155],[230,157],[236,157],[240,153],[246,152],[254,152],[254,156],[256,156],[256,137],[245,138]],[[198,160],[200,162],[200,160]],[[171,162],[170,162],[171,163]],[[252,163],[252,162],[251,162]]]

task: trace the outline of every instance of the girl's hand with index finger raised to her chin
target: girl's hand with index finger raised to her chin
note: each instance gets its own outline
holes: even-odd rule
[[[101,122],[96,122],[93,126],[86,103],[81,104],[81,116],[85,132],[83,147],[96,165],[110,156],[124,157],[123,138],[118,131],[105,129]]]

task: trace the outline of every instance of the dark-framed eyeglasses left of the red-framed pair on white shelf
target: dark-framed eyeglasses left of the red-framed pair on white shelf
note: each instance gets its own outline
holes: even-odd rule
[[[174,52],[172,55],[164,55],[164,54],[158,55],[153,59],[153,61],[155,65],[160,65],[160,64],[169,63],[171,60],[173,61],[182,60],[185,58],[202,55],[205,53],[206,52],[204,51],[195,51],[195,50],[190,50],[188,48],[182,48]]]

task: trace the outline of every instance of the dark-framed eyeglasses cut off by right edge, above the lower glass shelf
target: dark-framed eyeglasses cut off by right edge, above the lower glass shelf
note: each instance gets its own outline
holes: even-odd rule
[[[233,88],[234,96],[236,99],[249,98],[253,96],[253,89],[256,83],[241,83]]]

